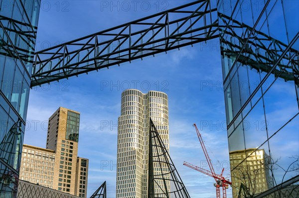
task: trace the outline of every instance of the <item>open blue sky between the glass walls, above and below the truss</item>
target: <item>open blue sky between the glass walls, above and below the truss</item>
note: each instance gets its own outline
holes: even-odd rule
[[[116,6],[112,6],[112,2]],[[37,50],[187,1],[138,1],[136,7],[132,1],[127,2],[131,4],[129,10],[122,1],[43,1]],[[121,93],[127,88],[137,88],[144,93],[149,90],[162,91],[168,95],[169,100],[170,156],[191,197],[213,198],[215,181],[182,164],[187,161],[208,169],[192,127],[196,123],[202,130],[216,173],[220,173],[223,167],[228,168],[219,50],[216,39],[154,58],[147,57],[143,61],[123,64],[121,67],[33,88],[29,98],[24,143],[45,147],[48,117],[59,106],[79,111],[78,155],[90,160],[88,196],[106,180],[108,197],[113,198],[116,189],[117,120],[121,110]],[[224,175],[229,175],[228,169]],[[231,197],[230,189],[228,197]]]

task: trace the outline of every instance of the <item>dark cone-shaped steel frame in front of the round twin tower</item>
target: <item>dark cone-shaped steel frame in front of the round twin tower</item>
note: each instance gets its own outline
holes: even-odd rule
[[[148,198],[190,198],[154,123],[149,122]]]

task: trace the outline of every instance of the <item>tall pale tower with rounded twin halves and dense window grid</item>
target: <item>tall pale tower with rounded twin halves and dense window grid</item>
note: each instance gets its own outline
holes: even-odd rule
[[[148,94],[139,90],[124,91],[118,120],[117,198],[147,198],[149,118],[169,152],[167,95],[154,91]],[[155,163],[153,167],[158,167]],[[153,171],[155,173],[158,170],[154,168]]]

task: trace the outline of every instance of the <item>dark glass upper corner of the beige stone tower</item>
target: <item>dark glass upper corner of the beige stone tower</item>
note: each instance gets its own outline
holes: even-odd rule
[[[66,137],[65,139],[78,142],[80,114],[67,111]]]

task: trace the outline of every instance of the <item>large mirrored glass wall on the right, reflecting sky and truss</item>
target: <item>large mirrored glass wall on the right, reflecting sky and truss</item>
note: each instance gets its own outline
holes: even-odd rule
[[[248,197],[294,184],[299,181],[299,1],[218,0],[217,7],[233,197],[241,186],[242,197]]]

